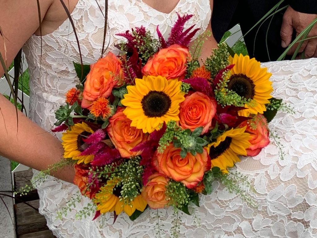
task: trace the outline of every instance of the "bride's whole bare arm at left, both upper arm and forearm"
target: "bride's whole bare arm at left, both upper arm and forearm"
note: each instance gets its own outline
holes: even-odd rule
[[[40,0],[43,19],[51,0]],[[10,65],[25,41],[38,29],[36,0],[0,0],[0,52]],[[0,76],[4,73],[0,65]],[[17,123],[18,118],[18,123]],[[4,96],[0,95],[0,155],[35,169],[46,169],[60,161],[63,154],[61,142],[18,112]],[[72,182],[71,168],[55,176]]]

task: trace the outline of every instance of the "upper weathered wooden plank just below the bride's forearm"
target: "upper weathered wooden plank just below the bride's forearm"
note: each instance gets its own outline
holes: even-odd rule
[[[31,179],[33,176],[32,169],[24,170],[24,171],[18,171],[14,173],[14,188],[16,191],[19,191],[21,188],[24,188],[26,184],[28,184],[31,188]],[[36,189],[33,189],[30,191],[27,195],[16,195],[15,203],[20,203],[22,201],[28,202],[39,199],[39,196],[37,194]]]

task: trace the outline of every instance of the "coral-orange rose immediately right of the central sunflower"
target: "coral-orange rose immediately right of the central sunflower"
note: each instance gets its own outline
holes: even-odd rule
[[[211,126],[211,120],[216,114],[217,102],[201,92],[195,92],[185,97],[180,104],[179,124],[183,129],[194,131],[197,127],[203,127],[202,134]]]

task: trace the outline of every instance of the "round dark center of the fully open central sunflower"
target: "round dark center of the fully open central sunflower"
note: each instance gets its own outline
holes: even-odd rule
[[[171,98],[162,91],[150,91],[141,101],[144,115],[148,117],[164,116],[171,103]]]

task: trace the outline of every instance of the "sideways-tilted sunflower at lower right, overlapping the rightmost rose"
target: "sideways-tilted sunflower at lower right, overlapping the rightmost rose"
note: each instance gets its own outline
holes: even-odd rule
[[[217,141],[208,144],[207,152],[211,159],[211,168],[219,167],[224,173],[228,173],[227,168],[233,167],[239,162],[237,155],[247,155],[245,149],[251,145],[249,133],[245,133],[246,127],[230,129],[217,137]]]

